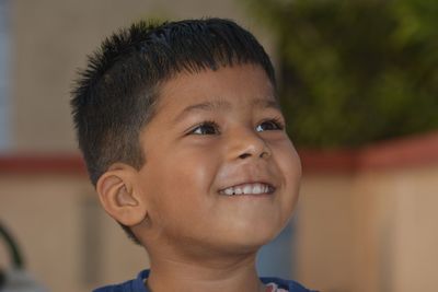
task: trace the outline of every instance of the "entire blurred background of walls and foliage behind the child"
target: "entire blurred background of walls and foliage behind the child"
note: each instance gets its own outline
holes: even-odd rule
[[[437,15],[433,0],[0,0],[0,227],[22,255],[0,243],[3,282],[25,267],[47,291],[90,291],[148,266],[96,202],[71,84],[120,26],[220,16],[272,56],[303,164],[261,273],[325,292],[438,291]]]

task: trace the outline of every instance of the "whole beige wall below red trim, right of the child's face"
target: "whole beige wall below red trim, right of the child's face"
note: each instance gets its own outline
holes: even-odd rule
[[[437,291],[437,206],[438,162],[304,176],[297,279],[325,292]]]

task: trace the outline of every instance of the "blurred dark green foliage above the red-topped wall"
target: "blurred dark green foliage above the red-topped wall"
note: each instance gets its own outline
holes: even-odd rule
[[[296,144],[357,147],[438,128],[438,1],[245,2],[278,40]]]

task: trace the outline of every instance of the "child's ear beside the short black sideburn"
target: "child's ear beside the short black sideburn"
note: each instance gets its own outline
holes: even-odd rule
[[[126,226],[139,224],[147,217],[147,208],[135,184],[136,170],[113,164],[97,180],[99,199],[105,211]]]

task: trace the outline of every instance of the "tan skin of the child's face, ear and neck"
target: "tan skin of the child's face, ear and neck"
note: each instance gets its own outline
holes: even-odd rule
[[[97,183],[105,210],[149,252],[151,291],[265,291],[256,253],[290,218],[301,177],[272,83],[258,66],[224,67],[180,73],[159,98],[145,165],[114,164]],[[223,195],[246,183],[272,188]]]

